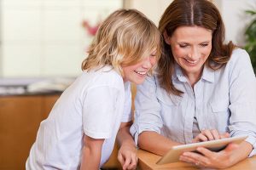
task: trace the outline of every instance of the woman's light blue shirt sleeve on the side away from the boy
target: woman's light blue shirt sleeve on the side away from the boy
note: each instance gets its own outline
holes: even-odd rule
[[[245,50],[232,54],[230,70],[230,135],[247,135],[253,145],[250,156],[256,155],[256,78],[250,57]]]

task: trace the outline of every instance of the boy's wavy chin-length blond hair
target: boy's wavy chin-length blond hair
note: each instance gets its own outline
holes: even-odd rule
[[[119,9],[99,27],[82,70],[111,65],[123,74],[122,66],[137,64],[153,50],[159,59],[162,36],[154,23],[136,9]]]

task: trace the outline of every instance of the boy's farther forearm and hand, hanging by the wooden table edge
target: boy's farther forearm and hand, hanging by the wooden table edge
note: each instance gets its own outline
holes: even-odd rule
[[[131,123],[122,122],[117,134],[120,146],[118,159],[123,169],[136,169],[137,167],[137,148],[130,133]]]

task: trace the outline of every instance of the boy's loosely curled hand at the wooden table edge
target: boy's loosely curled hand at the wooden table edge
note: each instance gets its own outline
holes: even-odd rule
[[[137,149],[133,144],[122,144],[119,149],[118,160],[123,169],[133,170],[137,167]]]

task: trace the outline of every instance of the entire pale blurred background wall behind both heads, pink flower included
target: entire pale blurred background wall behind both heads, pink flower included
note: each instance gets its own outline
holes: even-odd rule
[[[157,25],[172,0],[1,0],[0,77],[76,77],[98,24],[117,8],[137,8]],[[255,0],[212,0],[226,40],[245,45]]]

